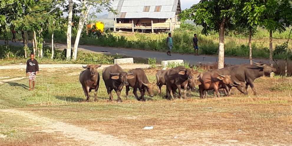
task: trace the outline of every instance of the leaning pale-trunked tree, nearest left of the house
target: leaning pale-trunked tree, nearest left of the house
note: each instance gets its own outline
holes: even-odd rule
[[[107,10],[113,13],[116,13],[114,9],[111,7],[111,1],[110,0],[82,0],[81,3],[81,14],[79,18],[78,28],[77,28],[77,35],[75,39],[75,44],[73,48],[73,56],[72,59],[76,60],[77,58],[77,50],[78,50],[78,44],[81,36],[81,32],[84,26],[84,23],[86,21],[86,18],[88,16],[88,13],[90,12],[91,8],[95,8],[97,13],[102,12],[102,10]]]

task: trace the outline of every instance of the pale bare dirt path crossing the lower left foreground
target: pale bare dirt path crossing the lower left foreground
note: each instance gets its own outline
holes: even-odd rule
[[[95,131],[89,131],[83,127],[77,127],[72,124],[55,121],[46,117],[40,117],[36,114],[26,111],[20,111],[16,109],[1,109],[0,112],[15,114],[24,117],[27,120],[31,120],[39,123],[44,130],[42,132],[53,133],[62,132],[67,138],[73,138],[74,140],[80,141],[83,145],[107,145],[107,146],[131,146],[136,145],[111,135],[105,135]]]

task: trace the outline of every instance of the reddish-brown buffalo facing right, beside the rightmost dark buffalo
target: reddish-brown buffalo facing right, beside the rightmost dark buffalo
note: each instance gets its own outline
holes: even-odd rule
[[[222,84],[232,84],[230,75],[221,75],[217,70],[207,71],[200,75],[199,85],[200,98],[204,98],[206,90],[214,89],[214,97],[220,97],[218,92],[219,86]]]

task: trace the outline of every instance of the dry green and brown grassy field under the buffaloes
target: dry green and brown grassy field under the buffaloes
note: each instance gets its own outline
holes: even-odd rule
[[[259,95],[244,96],[235,89],[231,97],[199,99],[193,92],[188,99],[136,101],[130,91],[122,103],[109,102],[103,80],[98,102],[84,102],[78,81],[82,69],[42,69],[34,91],[27,91],[22,79],[0,85],[0,111],[17,110],[52,120],[113,135],[134,145],[291,145],[292,78],[262,77],[255,81]],[[0,70],[0,77],[23,76],[24,70]],[[146,70],[151,82],[155,69]],[[2,79],[0,79],[2,80]],[[165,87],[163,87],[165,94]],[[252,93],[251,89],[248,89]],[[157,91],[155,91],[157,94]],[[117,99],[114,93],[114,99]],[[212,97],[212,95],[209,95]],[[93,97],[93,93],[91,93]],[[25,115],[25,114],[24,114]],[[84,145],[52,132],[45,123],[24,115],[0,114],[0,145]],[[143,130],[154,126],[153,130]],[[92,135],[94,136],[94,135]],[[85,144],[86,145],[86,144]]]

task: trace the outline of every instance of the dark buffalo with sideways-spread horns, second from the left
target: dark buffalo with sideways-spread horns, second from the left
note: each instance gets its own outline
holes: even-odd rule
[[[110,101],[113,101],[112,90],[118,95],[118,102],[122,102],[120,97],[123,86],[128,86],[128,79],[134,78],[132,73],[126,73],[119,65],[109,66],[103,69],[103,81],[108,91]]]

